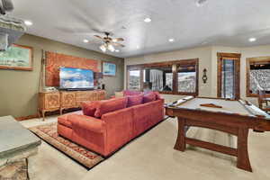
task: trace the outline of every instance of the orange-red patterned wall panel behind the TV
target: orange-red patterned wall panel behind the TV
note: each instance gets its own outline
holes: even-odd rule
[[[46,51],[46,86],[59,86],[59,67],[91,69],[98,72],[98,62],[88,58],[77,58]]]

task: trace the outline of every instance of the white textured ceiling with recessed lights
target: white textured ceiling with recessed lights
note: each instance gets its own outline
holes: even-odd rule
[[[126,47],[111,53],[121,58],[202,45],[270,44],[269,0],[208,0],[201,7],[195,0],[13,2],[11,15],[33,23],[28,33],[101,51],[93,35],[111,31],[125,39]],[[144,23],[146,17],[152,22]],[[257,41],[249,42],[250,37]]]

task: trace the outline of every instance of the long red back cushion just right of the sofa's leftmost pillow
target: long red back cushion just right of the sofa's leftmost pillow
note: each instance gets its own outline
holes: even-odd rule
[[[104,113],[114,112],[127,107],[128,97],[98,101],[94,117],[100,118]]]

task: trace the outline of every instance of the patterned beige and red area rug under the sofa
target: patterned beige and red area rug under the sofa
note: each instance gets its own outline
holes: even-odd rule
[[[40,139],[48,142],[51,146],[65,153],[68,157],[73,158],[86,168],[92,168],[104,159],[87,148],[83,148],[59,136],[57,132],[57,122],[32,127],[29,128],[29,130],[39,136]]]

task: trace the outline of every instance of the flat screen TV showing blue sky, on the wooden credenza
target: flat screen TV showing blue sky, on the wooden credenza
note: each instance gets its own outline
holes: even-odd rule
[[[60,67],[60,89],[93,89],[94,73],[89,69]]]

